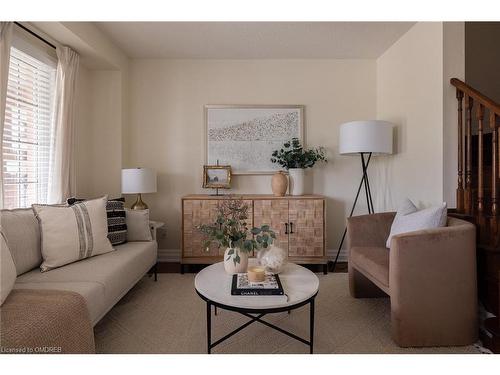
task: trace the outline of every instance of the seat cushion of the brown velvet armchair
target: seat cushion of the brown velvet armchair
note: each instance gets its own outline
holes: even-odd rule
[[[349,262],[379,287],[389,289],[389,250],[385,247],[352,247]]]

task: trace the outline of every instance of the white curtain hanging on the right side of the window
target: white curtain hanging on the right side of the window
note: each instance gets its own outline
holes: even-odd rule
[[[74,194],[74,107],[79,56],[57,48],[54,136],[49,167],[48,203],[62,203]]]

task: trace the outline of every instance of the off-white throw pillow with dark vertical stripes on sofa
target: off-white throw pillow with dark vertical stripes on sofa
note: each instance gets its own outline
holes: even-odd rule
[[[72,206],[33,205],[40,223],[42,272],[113,251],[108,240],[107,197]]]

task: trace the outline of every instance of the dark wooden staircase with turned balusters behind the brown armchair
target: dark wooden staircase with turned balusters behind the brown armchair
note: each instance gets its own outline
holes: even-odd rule
[[[450,215],[476,225],[479,298],[486,319],[483,344],[500,352],[500,105],[457,78],[457,208]],[[465,113],[464,113],[465,112]]]

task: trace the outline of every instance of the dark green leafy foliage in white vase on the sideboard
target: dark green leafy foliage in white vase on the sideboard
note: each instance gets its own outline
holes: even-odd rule
[[[304,149],[298,138],[285,142],[281,149],[273,151],[271,157],[271,162],[285,169],[312,168],[319,161],[327,162],[324,147]]]

